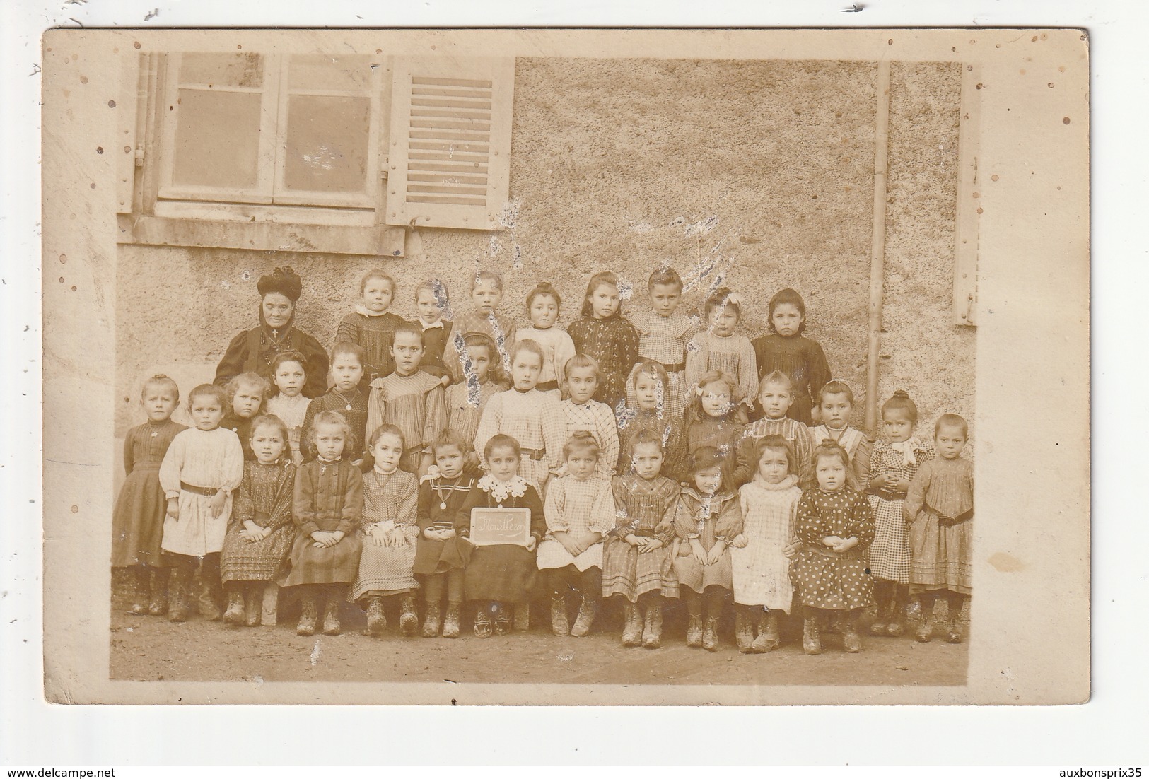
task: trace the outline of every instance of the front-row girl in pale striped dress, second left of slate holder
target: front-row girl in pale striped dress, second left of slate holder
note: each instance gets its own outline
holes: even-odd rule
[[[412,572],[418,481],[399,470],[404,448],[403,433],[394,425],[379,425],[368,439],[375,464],[363,475],[363,519],[357,531],[363,550],[350,597],[365,602],[368,635],[379,635],[387,626],[384,599],[399,599],[403,635],[415,635],[419,626],[411,595],[419,586]]]

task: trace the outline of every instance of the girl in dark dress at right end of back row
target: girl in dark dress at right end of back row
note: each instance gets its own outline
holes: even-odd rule
[[[781,371],[794,383],[789,417],[811,424],[812,399],[830,380],[830,364],[817,341],[802,334],[805,330],[805,303],[793,290],[782,290],[770,299],[770,332],[754,339],[758,376]]]

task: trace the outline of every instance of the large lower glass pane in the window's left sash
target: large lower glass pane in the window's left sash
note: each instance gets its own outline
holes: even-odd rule
[[[171,183],[226,190],[259,180],[259,92],[179,90]]]

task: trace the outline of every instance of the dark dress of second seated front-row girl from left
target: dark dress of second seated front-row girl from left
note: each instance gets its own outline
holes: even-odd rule
[[[363,514],[363,476],[346,460],[313,460],[295,471],[292,518],[295,540],[291,568],[279,577],[280,587],[349,584],[358,570],[360,539],[355,534]],[[333,547],[316,547],[311,533],[340,531]]]

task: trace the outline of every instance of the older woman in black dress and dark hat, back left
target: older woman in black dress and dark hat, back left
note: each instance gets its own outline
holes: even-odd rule
[[[240,373],[253,371],[275,384],[271,361],[280,352],[299,352],[303,355],[307,381],[303,394],[318,398],[327,391],[327,353],[302,330],[292,324],[295,321],[295,301],[303,291],[299,276],[290,267],[276,268],[261,276],[256,288],[260,291],[260,326],[231,339],[228,352],[216,368],[215,383],[223,386]]]

